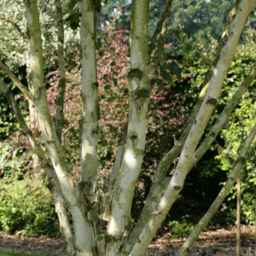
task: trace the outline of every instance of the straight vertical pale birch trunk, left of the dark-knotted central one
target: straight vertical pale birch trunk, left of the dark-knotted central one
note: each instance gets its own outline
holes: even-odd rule
[[[81,1],[80,40],[82,65],[83,127],[81,181],[90,183],[88,193],[95,195],[97,178],[98,101],[96,80],[96,10],[91,0]]]

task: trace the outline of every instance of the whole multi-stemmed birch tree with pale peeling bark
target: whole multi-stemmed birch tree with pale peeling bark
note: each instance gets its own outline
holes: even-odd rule
[[[103,1],[108,4],[108,1]],[[188,125],[178,139],[160,160],[155,171],[154,181],[143,211],[136,224],[132,224],[131,204],[139,173],[145,155],[148,103],[159,72],[159,58],[166,41],[166,32],[172,0],[166,0],[165,8],[155,27],[153,37],[148,40],[149,0],[132,0],[130,58],[131,69],[127,73],[129,91],[129,113],[123,136],[119,140],[113,170],[108,177],[106,189],[97,187],[99,176],[98,140],[98,82],[96,64],[96,24],[101,11],[100,0],[81,0],[80,10],[80,62],[82,67],[82,85],[80,90],[82,106],[80,182],[77,185],[69,174],[68,166],[61,147],[63,127],[63,98],[65,92],[65,42],[63,29],[63,11],[61,1],[55,0],[58,17],[58,60],[60,83],[55,101],[55,122],[50,114],[44,84],[44,59],[42,33],[38,0],[24,0],[26,16],[26,33],[29,44],[29,86],[15,77],[9,67],[1,63],[3,72],[9,75],[13,83],[33,103],[36,109],[37,131],[32,131],[26,124],[15,102],[12,91],[0,79],[1,92],[8,98],[15,118],[20,123],[21,131],[28,137],[32,149],[38,156],[41,167],[48,180],[49,189],[55,201],[61,234],[66,242],[68,255],[144,255],[150,241],[166,214],[183,189],[183,183],[189,171],[205,154],[212,141],[221,130],[237,102],[255,79],[255,65],[241,84],[236,94],[224,108],[205,141],[198,148],[199,141],[205,132],[213,109],[218,103],[218,96],[224,83],[225,75],[235,53],[247,15],[256,7],[255,0],[236,0],[230,10],[228,22],[224,28],[215,55],[209,63],[201,94],[195,105],[194,113]],[[18,45],[17,45],[18,47]],[[38,132],[42,141],[38,140]],[[185,255],[199,236],[202,228],[212,218],[221,202],[224,201],[237,173],[245,164],[246,152],[255,137],[255,125],[247,137],[241,154],[236,160],[230,179],[218,195],[216,201],[189,236],[179,251]],[[44,150],[45,147],[45,150]],[[175,172],[168,177],[168,169],[172,161],[179,157]],[[70,219],[70,216],[71,219]],[[71,224],[72,223],[72,224]]]

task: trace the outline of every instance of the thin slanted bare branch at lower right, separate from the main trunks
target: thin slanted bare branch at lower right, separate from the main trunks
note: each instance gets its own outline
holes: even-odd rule
[[[221,203],[224,201],[225,197],[229,194],[230,189],[236,182],[236,178],[241,172],[241,169],[246,164],[246,154],[248,148],[250,148],[251,143],[253,142],[253,138],[256,136],[256,125],[253,126],[250,131],[246,141],[243,143],[241,148],[241,153],[239,154],[238,159],[233,167],[233,171],[230,173],[230,177],[227,182],[224,184],[224,187],[218,193],[217,198],[212,203],[212,206],[209,208],[207,213],[201,218],[200,222],[195,226],[195,229],[191,232],[187,240],[183,243],[183,246],[179,249],[177,255],[183,256],[188,253],[189,248],[194,244],[197,237],[200,235],[201,231],[207,226],[209,221],[212,219],[215,212],[217,212],[218,207],[220,207]]]

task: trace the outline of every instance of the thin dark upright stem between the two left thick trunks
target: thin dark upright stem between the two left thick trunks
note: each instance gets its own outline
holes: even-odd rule
[[[55,131],[61,144],[61,135],[64,123],[64,96],[66,88],[65,60],[64,60],[64,22],[61,0],[55,0],[55,7],[58,16],[58,66],[59,66],[59,84],[58,94],[55,99]]]

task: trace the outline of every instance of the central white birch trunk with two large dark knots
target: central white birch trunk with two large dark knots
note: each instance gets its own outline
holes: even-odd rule
[[[132,2],[131,71],[129,83],[129,119],[125,154],[114,183],[111,220],[108,235],[124,240],[129,233],[131,202],[143,162],[147,126],[148,98],[148,0]],[[113,255],[113,243],[107,255]],[[116,246],[115,246],[116,247]]]

